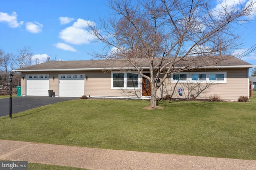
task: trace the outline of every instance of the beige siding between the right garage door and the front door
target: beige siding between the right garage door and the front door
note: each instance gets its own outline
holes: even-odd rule
[[[85,76],[88,76],[85,81],[86,96],[140,98],[140,90],[111,89],[111,72],[88,71]]]

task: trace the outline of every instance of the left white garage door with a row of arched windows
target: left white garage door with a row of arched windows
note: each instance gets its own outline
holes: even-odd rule
[[[48,96],[49,74],[27,74],[26,85],[27,96]]]

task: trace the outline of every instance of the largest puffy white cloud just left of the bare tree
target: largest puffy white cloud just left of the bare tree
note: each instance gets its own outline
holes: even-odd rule
[[[88,27],[88,22],[91,21],[79,18],[71,27],[66,27],[60,31],[59,37],[70,44],[89,44],[94,37],[85,30]]]

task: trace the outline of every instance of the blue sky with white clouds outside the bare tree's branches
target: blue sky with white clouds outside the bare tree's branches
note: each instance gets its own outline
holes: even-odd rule
[[[0,0],[0,48],[15,54],[17,49],[30,46],[40,61],[47,56],[63,61],[89,60],[88,53],[102,46],[90,41],[85,21],[97,23],[99,17],[108,16],[107,4],[108,0]],[[240,53],[256,44],[256,21],[245,26],[236,29],[243,33]],[[256,51],[242,59],[256,65]]]

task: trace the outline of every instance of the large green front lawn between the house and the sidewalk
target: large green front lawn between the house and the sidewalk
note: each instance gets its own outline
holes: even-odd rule
[[[38,107],[0,117],[0,139],[256,160],[256,97],[146,106],[146,100],[71,100]]]

